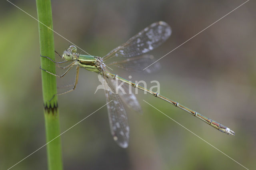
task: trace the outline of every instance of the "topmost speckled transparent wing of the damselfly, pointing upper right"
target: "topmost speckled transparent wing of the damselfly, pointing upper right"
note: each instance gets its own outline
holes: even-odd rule
[[[166,22],[154,22],[130,38],[126,43],[110,51],[103,59],[106,61],[106,59],[112,57],[135,57],[141,55],[165,42],[171,33],[172,30]]]

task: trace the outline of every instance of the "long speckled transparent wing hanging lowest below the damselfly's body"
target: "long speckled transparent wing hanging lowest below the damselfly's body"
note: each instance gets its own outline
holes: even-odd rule
[[[128,118],[124,106],[119,96],[115,94],[114,89],[108,86],[106,76],[103,74],[103,83],[105,86],[106,102],[110,102],[107,105],[108,108],[108,119],[110,123],[110,132],[122,148],[127,148],[129,143],[129,132],[130,128],[128,125]],[[106,90],[107,89],[107,90]]]

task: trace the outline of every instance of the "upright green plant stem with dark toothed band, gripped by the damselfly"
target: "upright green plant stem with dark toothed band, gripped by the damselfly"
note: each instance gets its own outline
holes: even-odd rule
[[[52,8],[50,0],[36,0],[40,38],[40,54],[54,59],[54,37],[52,27]],[[47,28],[47,27],[49,28]],[[47,58],[41,57],[41,67],[55,73],[55,64]],[[42,92],[44,101],[44,119],[46,127],[47,160],[49,170],[62,170],[62,152],[60,137],[60,121],[57,96],[50,102],[54,94],[57,93],[56,77],[41,71],[42,73]],[[54,140],[52,140],[54,139]],[[52,141],[51,141],[52,140]],[[51,142],[50,142],[51,141]]]

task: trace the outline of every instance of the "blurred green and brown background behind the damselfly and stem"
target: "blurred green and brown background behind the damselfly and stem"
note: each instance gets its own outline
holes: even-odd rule
[[[35,1],[12,0],[35,18]],[[157,59],[240,4],[242,0],[53,0],[54,30],[88,53],[104,56],[153,22],[172,36],[151,51]],[[38,23],[7,1],[0,3],[0,169],[7,169],[46,143]],[[256,167],[256,3],[249,1],[162,58],[150,75],[118,70],[121,77],[160,82],[160,93],[230,127],[229,136],[151,95],[137,95],[143,115],[127,109],[130,145],[112,139],[106,107],[61,136],[64,169],[243,169],[142,99],[249,169]],[[54,35],[62,53],[68,42]],[[78,50],[79,51],[79,50]],[[81,51],[79,51],[81,52]],[[114,73],[116,73],[114,71]],[[72,74],[66,79],[74,79]],[[105,104],[96,73],[80,70],[75,91],[59,96],[64,130]],[[58,86],[61,86],[60,84]],[[15,170],[46,169],[46,147]]]

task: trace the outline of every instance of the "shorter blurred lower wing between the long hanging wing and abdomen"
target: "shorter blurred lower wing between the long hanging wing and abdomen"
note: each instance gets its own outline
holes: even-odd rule
[[[132,110],[142,113],[142,109],[140,107],[140,104],[136,98],[136,96],[132,93],[132,89],[128,89],[126,85],[124,85],[124,82],[118,81],[117,79],[111,79],[111,84],[114,87],[115,90],[118,90],[118,95],[121,98],[121,100]],[[119,82],[119,83],[118,83]],[[118,87],[118,89],[116,89]]]

